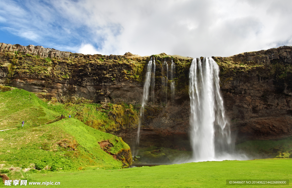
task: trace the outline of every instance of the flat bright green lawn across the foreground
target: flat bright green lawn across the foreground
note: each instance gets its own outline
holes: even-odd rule
[[[32,174],[31,177],[39,182],[60,182],[60,185],[56,187],[64,188],[226,187],[226,179],[289,179],[290,185],[248,185],[246,187],[292,187],[291,168],[292,159],[257,159],[144,166],[114,170],[96,169],[78,172],[39,173]],[[230,187],[241,186],[230,185]]]

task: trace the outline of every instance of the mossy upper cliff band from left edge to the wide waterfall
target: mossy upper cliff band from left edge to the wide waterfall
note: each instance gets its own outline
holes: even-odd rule
[[[171,58],[177,65],[178,77],[181,69],[191,63],[192,58],[164,53],[152,56],[96,56],[95,58],[69,57],[49,58],[23,54],[18,51],[0,53],[0,68],[6,77],[37,78],[55,82],[80,81],[76,77],[91,75],[93,81],[115,84],[123,81],[142,83],[144,65],[155,57],[157,65],[166,60],[170,66]],[[158,67],[159,68],[159,67]],[[98,70],[96,72],[96,70]],[[144,70],[145,71],[145,70]]]

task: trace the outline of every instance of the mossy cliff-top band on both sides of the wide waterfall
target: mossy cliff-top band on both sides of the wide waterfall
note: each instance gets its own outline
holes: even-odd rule
[[[41,47],[41,49],[44,48]],[[291,64],[291,49],[290,46],[284,46],[257,52],[245,52],[229,57],[213,57],[213,59],[220,66],[221,72],[249,71],[257,67],[269,67],[270,64],[279,64],[283,61]],[[133,55],[130,52],[124,55],[109,56],[73,54],[71,52],[63,54],[66,53],[69,54],[53,57],[51,54],[25,51],[20,47],[14,49],[1,47],[0,68],[4,72],[3,76],[9,79],[17,77],[37,78],[51,82],[84,84],[84,78],[90,77],[91,83],[108,85],[129,82],[142,84],[146,71],[145,64],[151,57],[155,57],[158,73],[156,77],[161,77],[159,71],[162,69],[162,63],[166,61],[170,67],[171,59],[173,59],[176,65],[175,79],[181,83],[183,79],[188,78],[188,70],[193,59],[165,53],[143,57]],[[282,77],[290,72],[282,65],[276,66],[278,66],[276,69],[283,69]],[[50,83],[47,84],[50,85]]]

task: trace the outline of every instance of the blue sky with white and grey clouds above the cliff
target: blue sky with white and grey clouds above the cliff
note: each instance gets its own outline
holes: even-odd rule
[[[83,54],[231,56],[292,45],[291,0],[0,0],[0,42]]]

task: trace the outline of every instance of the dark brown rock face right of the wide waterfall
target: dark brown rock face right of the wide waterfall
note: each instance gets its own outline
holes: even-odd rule
[[[219,64],[233,64],[232,71],[221,71],[220,80],[227,116],[238,140],[291,136],[291,55],[292,47],[283,46],[215,57]]]

